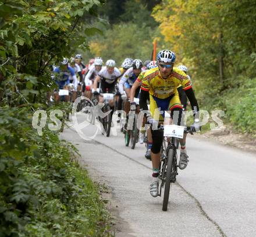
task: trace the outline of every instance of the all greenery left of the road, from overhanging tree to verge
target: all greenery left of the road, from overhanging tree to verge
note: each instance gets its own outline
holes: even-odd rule
[[[51,67],[100,32],[103,1],[0,1],[0,236],[111,236],[99,187],[75,161],[76,149],[33,112],[49,112]],[[89,20],[88,20],[89,21]],[[58,105],[61,108],[62,104]]]

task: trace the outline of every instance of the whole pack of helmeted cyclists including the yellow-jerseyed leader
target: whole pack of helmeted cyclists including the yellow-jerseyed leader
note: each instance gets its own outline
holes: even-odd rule
[[[173,115],[177,115],[177,125],[182,122],[183,110],[186,110],[187,97],[189,98],[194,115],[194,123],[191,129],[200,129],[200,116],[197,100],[191,86],[191,80],[187,75],[187,67],[179,65],[174,67],[175,53],[170,50],[161,50],[157,54],[157,61],[145,61],[140,59],[127,58],[123,61],[120,68],[116,67],[114,60],[106,61],[105,66],[101,57],[90,60],[88,65],[82,63],[80,54],[76,54],[70,61],[63,59],[59,67],[55,67],[53,72],[59,89],[69,87],[72,83],[74,92],[81,90],[84,96],[91,99],[97,96],[98,102],[102,103],[103,97],[99,93],[115,93],[114,100],[109,101],[113,111],[122,109],[129,115],[129,111],[140,108],[144,113],[144,122],[151,125],[161,125],[168,121],[172,123]],[[56,74],[61,77],[57,80]],[[76,74],[79,76],[77,79]],[[76,99],[77,94],[72,97]],[[139,104],[134,98],[139,98]],[[148,111],[148,107],[150,111]],[[147,111],[147,112],[146,112]],[[158,111],[156,114],[155,112]],[[162,112],[163,111],[163,112]],[[165,119],[166,112],[169,114],[168,120]],[[117,122],[120,122],[118,114]],[[147,133],[148,145],[145,157],[152,161],[152,183],[150,194],[158,196],[159,186],[159,162],[161,159],[161,145],[163,141],[163,131],[154,130],[152,126],[145,131],[140,130],[139,141],[143,143],[144,134]],[[189,162],[186,151],[186,134],[180,139],[180,160],[179,168],[185,169]]]

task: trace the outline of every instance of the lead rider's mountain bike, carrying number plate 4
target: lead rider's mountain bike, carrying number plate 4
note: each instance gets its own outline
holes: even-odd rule
[[[172,125],[173,126],[173,125]],[[176,125],[174,125],[176,126]],[[180,127],[180,126],[176,126]],[[161,125],[158,128],[159,130],[164,130],[164,126]],[[191,132],[190,127],[183,127],[184,133],[190,133]],[[173,130],[175,131],[175,130]],[[160,185],[160,192],[159,196],[162,194],[162,188],[164,187],[164,193],[163,193],[163,206],[162,210],[166,211],[168,207],[168,201],[169,201],[169,194],[170,194],[170,186],[172,183],[175,183],[176,181],[176,176],[178,175],[177,173],[177,149],[176,149],[176,144],[174,139],[175,136],[168,136],[167,139],[163,139],[163,144],[167,143],[166,148],[163,147],[161,148],[161,162],[159,163],[159,179],[161,180],[161,185]]]

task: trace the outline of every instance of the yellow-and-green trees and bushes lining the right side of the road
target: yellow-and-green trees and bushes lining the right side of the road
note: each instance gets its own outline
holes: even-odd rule
[[[163,0],[152,16],[189,68],[201,107],[226,112],[241,132],[256,129],[256,2]]]

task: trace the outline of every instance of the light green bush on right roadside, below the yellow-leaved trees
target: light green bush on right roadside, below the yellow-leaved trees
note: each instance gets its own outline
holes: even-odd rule
[[[204,89],[198,91],[198,103],[201,109],[209,112],[225,111],[225,122],[232,124],[234,130],[255,137],[256,80],[244,77],[239,81],[237,87],[215,95],[207,94]]]

